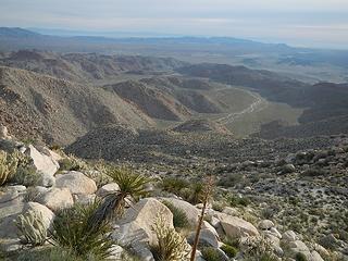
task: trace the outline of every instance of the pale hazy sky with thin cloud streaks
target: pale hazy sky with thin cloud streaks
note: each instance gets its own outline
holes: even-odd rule
[[[233,36],[348,48],[348,0],[0,0],[0,26]]]

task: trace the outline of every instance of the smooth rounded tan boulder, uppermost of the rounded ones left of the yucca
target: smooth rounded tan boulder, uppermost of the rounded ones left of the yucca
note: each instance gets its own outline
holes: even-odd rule
[[[97,191],[97,185],[94,179],[75,171],[57,175],[55,187],[69,188],[72,194],[89,195]]]

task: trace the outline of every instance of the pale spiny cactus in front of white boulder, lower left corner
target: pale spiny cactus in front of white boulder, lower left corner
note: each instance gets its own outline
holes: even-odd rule
[[[17,216],[15,225],[18,229],[18,237],[24,244],[41,246],[47,238],[47,228],[44,224],[41,213],[28,211]]]

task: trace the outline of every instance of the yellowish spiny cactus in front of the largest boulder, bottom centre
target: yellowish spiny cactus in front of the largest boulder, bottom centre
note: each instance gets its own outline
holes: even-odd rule
[[[174,228],[166,225],[162,215],[159,215],[154,226],[158,244],[151,246],[157,261],[184,261],[188,260],[189,247],[185,237],[182,237]]]

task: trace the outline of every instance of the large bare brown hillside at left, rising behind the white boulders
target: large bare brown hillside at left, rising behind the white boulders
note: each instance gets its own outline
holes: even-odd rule
[[[115,94],[11,67],[0,67],[0,122],[17,137],[55,144],[72,142],[103,124],[153,124]]]

